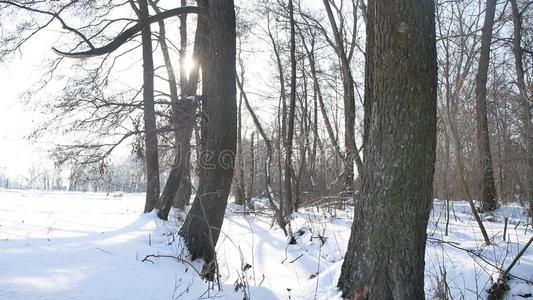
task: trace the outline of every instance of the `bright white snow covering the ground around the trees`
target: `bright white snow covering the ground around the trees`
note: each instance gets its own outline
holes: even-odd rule
[[[268,211],[229,205],[217,245],[219,290],[198,276],[200,262],[187,259],[179,216],[163,222],[143,215],[143,206],[142,194],[0,190],[0,299],[340,299],[352,208],[301,210],[292,222],[298,243],[287,246]],[[443,208],[435,202],[427,230],[426,296],[446,290],[453,299],[486,299],[497,276],[491,265],[506,268],[533,235],[525,210],[508,205],[484,215],[494,243],[483,246],[464,202],[453,204],[444,237]],[[182,261],[143,262],[151,254]],[[533,299],[533,247],[511,274],[507,298]]]

